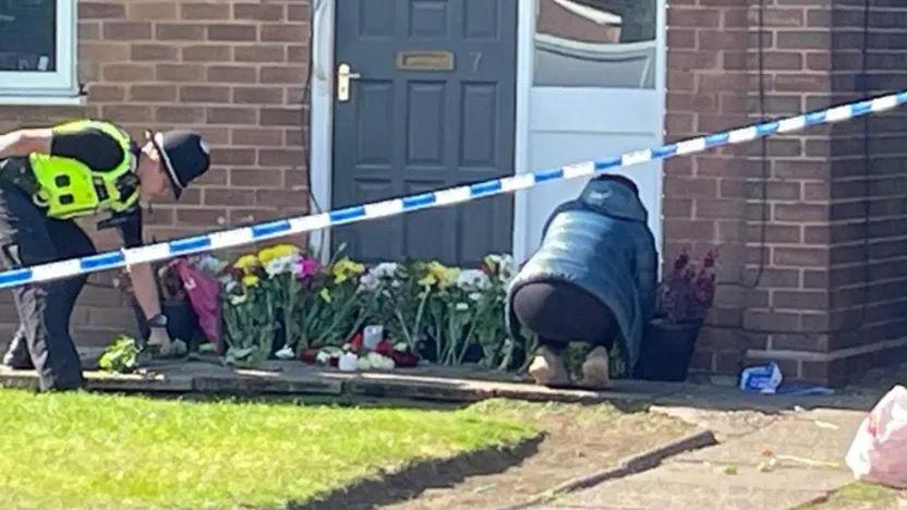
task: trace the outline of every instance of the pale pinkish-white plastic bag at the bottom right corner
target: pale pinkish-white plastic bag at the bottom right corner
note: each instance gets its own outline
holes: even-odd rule
[[[896,386],[863,420],[847,465],[857,479],[907,488],[907,388]]]

